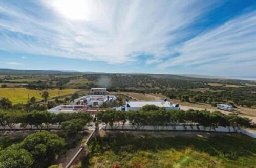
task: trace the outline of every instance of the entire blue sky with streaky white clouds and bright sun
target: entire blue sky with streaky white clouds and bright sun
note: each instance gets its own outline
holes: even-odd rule
[[[256,1],[0,0],[0,68],[256,77]]]

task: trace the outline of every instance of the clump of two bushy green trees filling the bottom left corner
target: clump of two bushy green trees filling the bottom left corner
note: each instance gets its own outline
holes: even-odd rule
[[[0,151],[0,167],[48,167],[65,145],[65,139],[46,131],[28,135],[22,142]]]

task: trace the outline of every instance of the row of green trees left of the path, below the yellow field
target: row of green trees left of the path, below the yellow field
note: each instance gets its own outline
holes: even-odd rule
[[[12,130],[17,124],[25,130],[27,126],[36,126],[42,129],[49,128],[53,124],[61,126],[67,135],[75,134],[82,130],[83,126],[92,121],[90,113],[49,113],[48,111],[33,111],[30,113],[20,111],[0,111],[0,125],[3,129],[7,126]],[[73,125],[72,125],[73,124]],[[71,127],[71,128],[70,128]]]

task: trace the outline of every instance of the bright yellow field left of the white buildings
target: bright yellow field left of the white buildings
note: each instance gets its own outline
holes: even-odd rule
[[[28,101],[28,96],[35,97],[37,100],[41,100],[41,94],[45,90],[34,90],[27,88],[0,88],[0,98],[5,97],[9,98],[13,104],[17,103],[26,103]],[[49,98],[53,98],[61,95],[71,94],[73,92],[78,91],[78,89],[48,89],[46,90],[49,93]]]

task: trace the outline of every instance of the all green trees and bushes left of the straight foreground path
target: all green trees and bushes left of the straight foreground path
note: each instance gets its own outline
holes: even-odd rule
[[[49,167],[57,153],[77,143],[77,134],[90,121],[92,116],[89,113],[0,111],[0,124],[3,128],[9,126],[14,130],[17,124],[23,129],[27,126],[49,128],[52,124],[61,126],[61,131],[58,132],[61,138],[46,131],[28,135],[23,140],[8,136],[0,138],[0,167]]]

